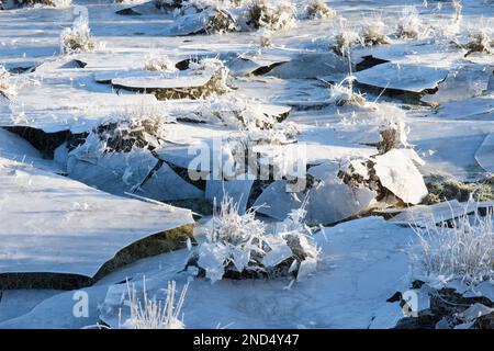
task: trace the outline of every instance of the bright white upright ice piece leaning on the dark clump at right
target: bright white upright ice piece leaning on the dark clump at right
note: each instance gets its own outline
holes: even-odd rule
[[[375,156],[375,176],[382,186],[404,203],[418,204],[428,194],[424,179],[415,166],[418,160],[413,150],[393,149]]]

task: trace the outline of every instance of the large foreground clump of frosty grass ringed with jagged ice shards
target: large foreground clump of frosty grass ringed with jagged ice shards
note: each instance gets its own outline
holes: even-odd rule
[[[303,224],[304,206],[292,212],[274,233],[256,219],[249,208],[238,213],[238,205],[225,195],[220,213],[214,213],[206,241],[192,254],[189,264],[212,283],[223,278],[305,278],[315,270],[318,250],[312,233]],[[191,263],[193,262],[193,263]]]

